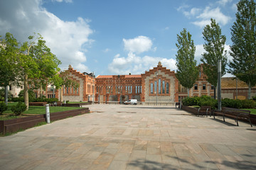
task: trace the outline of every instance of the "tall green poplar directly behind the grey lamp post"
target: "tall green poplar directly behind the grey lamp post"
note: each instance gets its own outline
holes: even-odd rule
[[[203,72],[207,76],[207,81],[214,86],[214,98],[216,97],[215,88],[218,82],[218,60],[221,60],[221,76],[225,74],[228,57],[225,47],[225,35],[221,35],[221,28],[215,19],[210,18],[210,25],[203,28],[203,39],[206,41],[203,48],[201,62],[203,62]]]

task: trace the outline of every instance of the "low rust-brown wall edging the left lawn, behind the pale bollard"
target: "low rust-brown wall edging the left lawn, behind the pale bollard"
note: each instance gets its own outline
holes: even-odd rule
[[[50,121],[60,120],[75,115],[82,115],[85,113],[90,113],[89,108],[81,108],[73,111],[50,113]],[[26,130],[42,122],[46,122],[46,114],[31,115],[26,118],[16,118],[11,120],[0,120],[0,132],[6,133],[16,132],[18,130]]]

